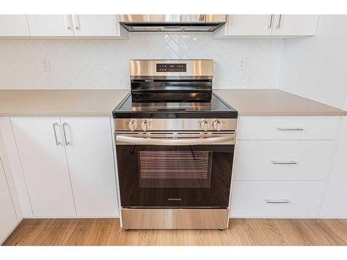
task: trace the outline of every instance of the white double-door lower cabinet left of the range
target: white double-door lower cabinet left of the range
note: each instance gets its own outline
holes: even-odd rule
[[[108,116],[11,121],[34,217],[118,216]]]

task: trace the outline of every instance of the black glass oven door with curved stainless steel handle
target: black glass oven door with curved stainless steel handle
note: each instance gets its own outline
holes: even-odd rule
[[[235,132],[116,134],[122,207],[228,207]]]

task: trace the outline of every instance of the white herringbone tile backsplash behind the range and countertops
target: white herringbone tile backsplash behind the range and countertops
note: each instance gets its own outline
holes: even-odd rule
[[[129,40],[0,40],[0,89],[124,89],[130,59],[214,60],[214,88],[274,88],[283,40],[130,33]],[[238,70],[246,58],[246,71]],[[51,71],[42,71],[49,59]]]

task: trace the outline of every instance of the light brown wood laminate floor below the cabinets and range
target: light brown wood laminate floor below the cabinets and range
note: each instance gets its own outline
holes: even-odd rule
[[[232,219],[219,230],[131,230],[119,219],[25,219],[3,245],[347,245],[347,220]]]

